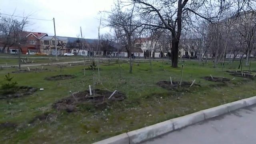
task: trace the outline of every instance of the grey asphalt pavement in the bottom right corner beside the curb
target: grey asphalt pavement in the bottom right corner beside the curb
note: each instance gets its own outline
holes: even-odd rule
[[[256,144],[256,105],[176,130],[142,144]]]

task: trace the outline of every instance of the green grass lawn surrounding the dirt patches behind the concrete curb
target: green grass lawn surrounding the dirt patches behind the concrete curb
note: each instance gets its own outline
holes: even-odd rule
[[[148,62],[133,64],[133,73],[129,74],[129,64],[124,61],[122,79],[116,61],[112,66],[99,64],[100,77],[96,71],[95,88],[118,90],[126,95],[126,99],[112,102],[105,107],[95,107],[93,104],[80,104],[76,112],[57,111],[52,104],[57,100],[70,96],[70,92],[88,90],[93,85],[91,70],[84,66],[67,66],[62,68],[62,74],[74,74],[76,78],[69,80],[47,81],[45,77],[60,74],[60,68],[45,66],[46,72],[27,72],[11,74],[13,81],[19,86],[44,88],[30,96],[0,100],[0,123],[12,122],[16,128],[0,128],[1,143],[92,143],[117,134],[136,130],[156,124],[164,120],[176,118],[206,108],[211,108],[228,102],[256,95],[256,83],[248,78],[235,77],[228,83],[210,82],[202,76],[220,76],[234,78],[226,70],[237,70],[238,62],[225,64],[222,68],[212,68],[208,62],[180,62],[180,68],[171,68],[170,62],[152,62],[152,72]],[[180,81],[181,64],[184,64],[183,81],[196,84],[183,90],[166,90],[156,85],[163,80]],[[86,66],[87,68],[88,66]],[[243,64],[243,70],[249,66]],[[252,70],[256,63],[252,62]],[[0,84],[4,83],[4,75],[14,71],[14,68],[0,70]],[[102,82],[102,84],[101,84]],[[54,114],[53,120],[38,120],[29,124],[36,116]]]

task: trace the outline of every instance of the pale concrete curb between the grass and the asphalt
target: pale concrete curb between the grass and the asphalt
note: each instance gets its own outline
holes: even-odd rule
[[[140,128],[138,130],[133,130],[118,136],[114,136],[93,144],[139,144],[140,142],[155,138],[162,134],[196,124],[198,122],[226,114],[233,110],[239,108],[244,108],[256,104],[256,96],[251,98],[246,98],[243,100],[238,100],[235,102],[230,102],[228,104],[223,104],[206,110],[201,110],[186,116],[181,116],[178,118],[173,118],[171,120],[166,120],[158,124]]]

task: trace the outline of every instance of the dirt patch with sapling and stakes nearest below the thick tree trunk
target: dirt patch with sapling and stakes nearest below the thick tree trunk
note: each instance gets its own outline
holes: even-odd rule
[[[170,82],[170,81],[160,81],[156,83],[158,86],[161,86],[162,88],[166,88],[168,90],[182,90],[184,88],[190,88],[190,85],[192,82],[182,82],[180,86],[180,82]],[[193,86],[200,86],[199,84],[193,84]]]

